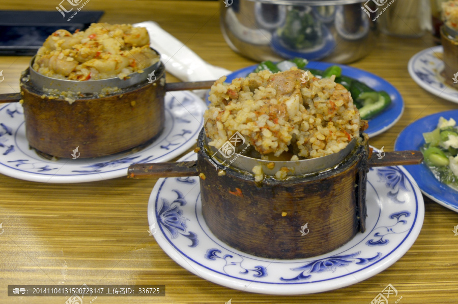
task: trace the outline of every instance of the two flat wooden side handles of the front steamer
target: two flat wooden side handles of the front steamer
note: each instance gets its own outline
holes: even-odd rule
[[[368,159],[368,167],[383,167],[419,164],[423,160],[423,154],[420,151],[393,151],[386,152],[385,156],[380,158],[371,155]],[[129,166],[127,171],[128,178],[146,179],[146,178],[167,178],[167,177],[186,177],[198,176],[199,171],[196,161],[178,161],[178,162],[156,162],[156,163],[137,163]]]

